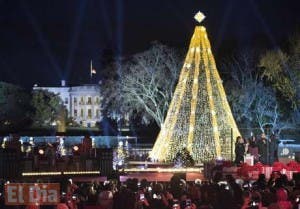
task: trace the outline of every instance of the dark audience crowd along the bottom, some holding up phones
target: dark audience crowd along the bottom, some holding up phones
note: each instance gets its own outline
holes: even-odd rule
[[[65,188],[65,189],[64,189]],[[3,194],[3,191],[2,193]],[[62,187],[61,203],[53,206],[6,206],[1,209],[298,209],[300,178],[279,172],[270,179],[235,179],[217,172],[210,181],[186,182],[174,175],[169,182],[128,179],[126,182],[74,183]]]

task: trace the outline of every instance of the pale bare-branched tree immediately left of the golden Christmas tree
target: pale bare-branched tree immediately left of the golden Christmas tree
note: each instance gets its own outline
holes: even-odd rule
[[[119,106],[121,112],[131,116],[139,114],[144,122],[153,120],[161,126],[181,62],[178,52],[159,43],[129,60],[123,60],[122,70],[117,71],[118,84],[109,87],[118,91],[118,96],[110,98],[111,103],[117,104],[112,106]]]

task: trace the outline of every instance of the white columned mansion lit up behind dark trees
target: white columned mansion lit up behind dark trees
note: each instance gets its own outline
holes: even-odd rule
[[[60,87],[39,87],[37,85],[33,87],[33,90],[38,89],[57,94],[63,101],[68,116],[84,127],[94,127],[96,122],[102,119],[102,97],[99,84],[68,87],[62,80]]]

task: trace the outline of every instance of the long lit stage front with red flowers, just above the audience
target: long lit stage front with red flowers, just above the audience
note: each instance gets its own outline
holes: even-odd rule
[[[146,179],[148,181],[165,182],[170,181],[174,174],[180,175],[186,181],[210,180],[213,179],[216,172],[221,172],[223,177],[232,175],[237,179],[258,178],[259,174],[265,174],[269,178],[272,172],[280,172],[287,175],[288,179],[292,179],[294,173],[300,172],[300,164],[290,160],[288,163],[275,162],[272,166],[256,163],[249,165],[247,163],[241,166],[234,166],[231,162],[217,161],[215,163],[205,163],[203,166],[191,168],[174,168],[171,165],[149,163],[131,164],[131,167],[112,171],[106,175],[99,169],[94,171],[54,171],[54,172],[24,172],[23,179],[60,179],[72,178],[77,182],[103,182],[107,179],[118,179],[121,182],[127,179],[136,178],[138,180]]]

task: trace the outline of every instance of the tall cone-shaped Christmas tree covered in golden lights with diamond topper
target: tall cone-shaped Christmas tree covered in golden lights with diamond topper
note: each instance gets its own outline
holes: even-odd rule
[[[195,19],[201,22],[202,13]],[[204,26],[196,26],[167,116],[150,157],[172,161],[186,148],[198,162],[230,159],[239,130]],[[234,140],[232,140],[232,138]]]

